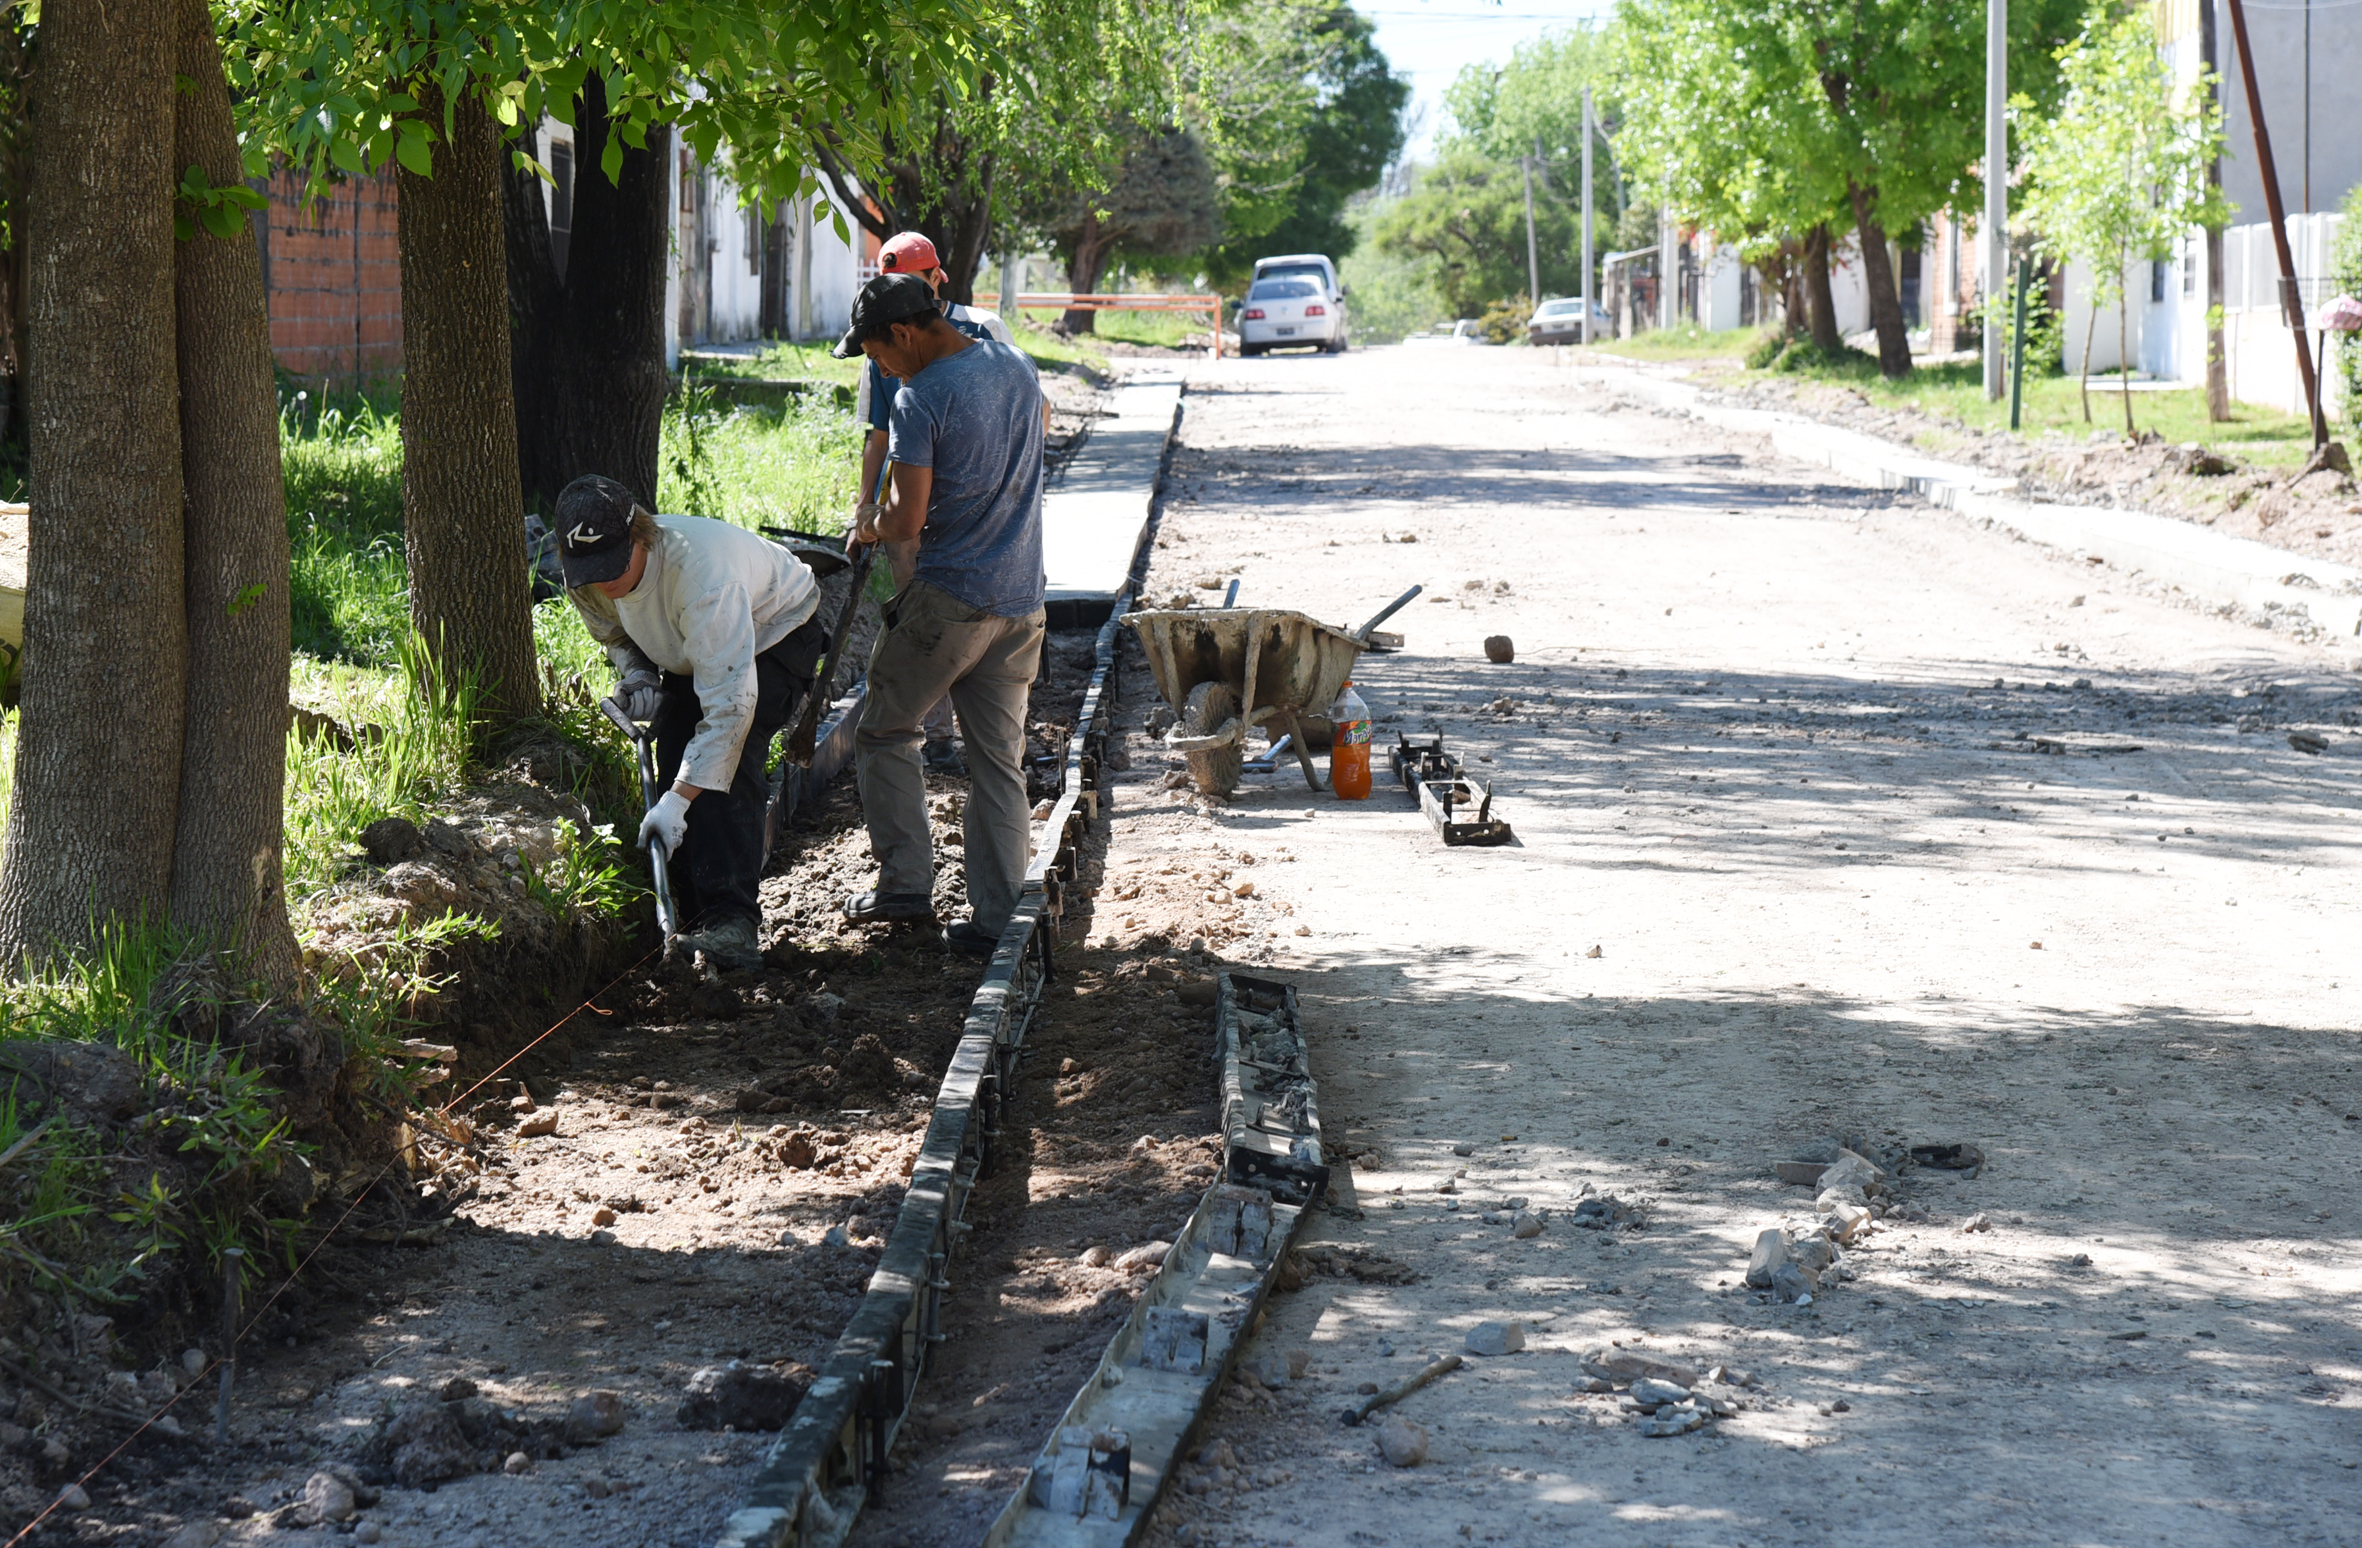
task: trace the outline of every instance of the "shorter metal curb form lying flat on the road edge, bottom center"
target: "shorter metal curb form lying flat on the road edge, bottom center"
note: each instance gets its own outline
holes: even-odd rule
[[[1304,1215],[1327,1191],[1297,990],[1224,974],[1224,1175],[1108,1340],[985,1548],[1122,1548],[1141,1536],[1254,1333]]]

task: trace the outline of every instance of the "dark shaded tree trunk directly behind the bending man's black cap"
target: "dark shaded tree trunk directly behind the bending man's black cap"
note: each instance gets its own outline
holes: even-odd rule
[[[657,508],[664,428],[664,277],[673,132],[624,147],[609,182],[607,90],[574,104],[574,229],[567,272],[550,258],[541,180],[503,173],[508,298],[515,326],[517,463],[543,508],[583,473],[605,473]]]

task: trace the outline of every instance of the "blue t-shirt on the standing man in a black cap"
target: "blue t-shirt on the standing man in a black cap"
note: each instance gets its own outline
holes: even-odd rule
[[[1042,378],[1032,359],[980,340],[919,371],[893,397],[886,456],[935,470],[921,581],[999,617],[1042,605]]]

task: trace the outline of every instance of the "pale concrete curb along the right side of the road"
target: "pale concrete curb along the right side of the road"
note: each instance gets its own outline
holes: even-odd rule
[[[1599,366],[1585,366],[1599,369]],[[1772,409],[1724,409],[1698,388],[1609,366],[1632,397],[1701,418],[1722,430],[1764,435],[1772,449],[1828,468],[1868,489],[1908,489],[1930,503],[2017,532],[2128,574],[2175,586],[2213,607],[2244,607],[2268,619],[2305,619],[2336,636],[2362,633],[2362,570],[2305,558],[2244,536],[2208,532],[2171,515],[2114,506],[2053,506],[2012,499],[2017,480],[1920,456],[1894,442]]]

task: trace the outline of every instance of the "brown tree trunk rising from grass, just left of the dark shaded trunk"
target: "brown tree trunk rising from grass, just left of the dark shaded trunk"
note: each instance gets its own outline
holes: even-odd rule
[[[420,111],[442,123],[442,95]],[[524,496],[508,371],[501,135],[458,102],[435,168],[402,170],[402,527],[411,624],[446,683],[475,674],[487,721],[536,714]]]

